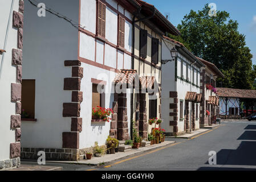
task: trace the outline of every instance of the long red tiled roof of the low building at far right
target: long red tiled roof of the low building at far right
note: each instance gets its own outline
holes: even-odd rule
[[[256,90],[217,88],[218,97],[256,98]]]

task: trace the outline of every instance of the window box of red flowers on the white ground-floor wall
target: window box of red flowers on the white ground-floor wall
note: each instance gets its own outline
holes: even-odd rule
[[[106,109],[100,106],[92,109],[92,123],[99,123],[99,122],[110,122],[111,121],[111,114],[113,114],[112,109]]]

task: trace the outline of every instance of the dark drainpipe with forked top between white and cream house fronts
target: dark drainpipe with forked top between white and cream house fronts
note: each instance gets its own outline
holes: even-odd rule
[[[135,18],[140,14],[141,9],[142,9],[141,7],[139,9],[137,9],[136,14],[133,15],[133,18],[132,18],[132,69],[134,69],[134,56],[135,56],[135,23],[141,22],[143,20],[151,19],[156,14],[156,9],[154,8],[153,14],[151,16],[135,20]],[[134,92],[131,93],[131,120],[133,120],[133,94],[134,94]],[[131,123],[131,131],[132,131],[132,129],[133,129],[133,125]],[[131,138],[132,137],[133,136],[132,136],[132,132],[131,132]]]

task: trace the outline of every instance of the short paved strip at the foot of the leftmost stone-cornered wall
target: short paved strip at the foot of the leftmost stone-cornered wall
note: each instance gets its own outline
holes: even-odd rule
[[[6,171],[62,171],[62,167],[21,165],[19,168],[6,169]]]

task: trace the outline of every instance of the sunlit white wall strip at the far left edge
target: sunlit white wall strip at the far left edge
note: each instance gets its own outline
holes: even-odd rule
[[[3,49],[6,37],[7,24],[11,11],[9,35],[5,48],[5,57],[2,63],[0,78],[0,160],[10,159],[10,143],[15,142],[15,130],[10,129],[11,115],[15,115],[15,102],[11,102],[11,83],[16,82],[16,67],[11,65],[12,49],[17,48],[17,28],[13,28],[13,11],[18,12],[19,0],[14,1],[11,10],[10,0],[0,1],[0,49]]]

